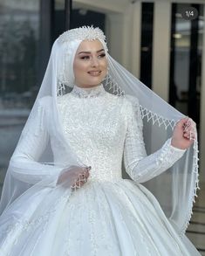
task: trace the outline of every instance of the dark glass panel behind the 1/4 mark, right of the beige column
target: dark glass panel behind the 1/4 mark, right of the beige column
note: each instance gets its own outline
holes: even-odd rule
[[[181,10],[194,6],[199,12],[195,20],[181,17]],[[170,103],[199,124],[203,5],[173,3]]]

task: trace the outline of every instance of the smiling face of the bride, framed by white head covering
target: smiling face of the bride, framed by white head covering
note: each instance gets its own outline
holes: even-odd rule
[[[80,43],[73,62],[75,84],[80,87],[98,86],[106,77],[107,59],[98,39]]]

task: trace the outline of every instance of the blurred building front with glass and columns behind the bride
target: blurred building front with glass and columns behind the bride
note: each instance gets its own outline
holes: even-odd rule
[[[105,31],[109,52],[197,123],[200,187],[188,238],[205,255],[205,0],[0,0],[0,194],[58,35]]]

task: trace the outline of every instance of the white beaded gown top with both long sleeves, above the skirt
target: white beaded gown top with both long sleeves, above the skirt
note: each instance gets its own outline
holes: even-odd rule
[[[48,112],[44,104],[43,107],[41,104],[40,109],[44,114]],[[58,97],[58,113],[65,140],[79,159],[92,167],[91,181],[120,179],[124,159],[126,172],[133,180],[146,182],[167,170],[185,151],[175,149],[168,139],[161,149],[147,156],[137,101],[133,106],[129,97],[107,93],[103,85],[92,88],[74,86],[72,93]],[[35,122],[37,127],[42,126],[41,120],[44,120],[41,113],[39,116]],[[27,133],[23,142],[19,143],[11,158],[13,175],[18,179],[36,183],[44,176],[60,172],[58,167],[37,163],[47,143],[47,136],[45,129],[38,129],[38,136]],[[61,151],[55,147],[56,143],[51,136],[54,160],[61,163],[64,162],[65,154],[63,149]],[[32,165],[26,166],[27,163]],[[24,171],[19,171],[19,168]]]

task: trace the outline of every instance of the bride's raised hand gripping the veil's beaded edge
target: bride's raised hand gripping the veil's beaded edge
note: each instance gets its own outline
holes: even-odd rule
[[[188,149],[195,139],[195,122],[188,118],[182,118],[174,127],[171,145],[178,149]]]

